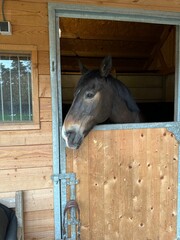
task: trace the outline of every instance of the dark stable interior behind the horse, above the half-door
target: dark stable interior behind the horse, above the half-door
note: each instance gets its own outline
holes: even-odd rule
[[[111,55],[112,74],[132,92],[147,122],[174,120],[175,26],[60,18],[63,116],[80,77],[78,61],[97,68]]]

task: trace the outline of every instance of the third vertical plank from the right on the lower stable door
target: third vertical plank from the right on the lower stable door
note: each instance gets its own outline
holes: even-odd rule
[[[147,231],[147,135],[133,130],[133,238],[144,240]]]

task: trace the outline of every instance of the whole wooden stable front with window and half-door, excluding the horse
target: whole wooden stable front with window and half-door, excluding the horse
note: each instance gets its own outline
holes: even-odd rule
[[[22,193],[24,239],[179,239],[180,3],[2,2],[0,202]],[[105,56],[146,121],[98,125],[68,149],[78,61]]]

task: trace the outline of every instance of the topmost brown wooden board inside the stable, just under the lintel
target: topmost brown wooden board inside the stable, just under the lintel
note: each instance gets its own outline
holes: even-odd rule
[[[60,18],[60,28],[62,38],[156,42],[164,26],[99,19]]]

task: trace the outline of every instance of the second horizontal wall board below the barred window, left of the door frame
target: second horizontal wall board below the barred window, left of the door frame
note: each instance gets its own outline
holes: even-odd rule
[[[52,166],[52,145],[0,147],[0,169]]]

